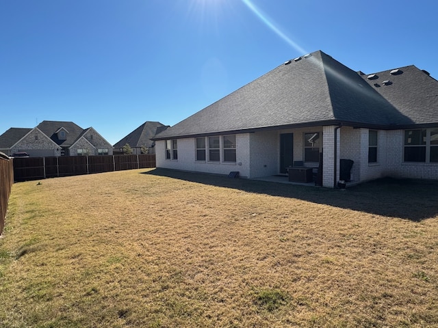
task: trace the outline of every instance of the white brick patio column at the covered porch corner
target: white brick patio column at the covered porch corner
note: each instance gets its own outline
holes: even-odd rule
[[[335,156],[335,133],[337,134],[337,147]],[[322,187],[333,188],[335,182],[339,180],[339,156],[340,156],[340,128],[335,125],[323,126],[322,128]],[[335,159],[336,178],[335,178]]]

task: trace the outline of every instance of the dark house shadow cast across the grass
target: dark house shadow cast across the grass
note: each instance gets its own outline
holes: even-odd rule
[[[153,169],[144,174],[240,189],[277,197],[291,197],[308,202],[348,208],[360,212],[421,221],[438,215],[438,182],[384,178],[359,184],[344,191],[294,184],[233,179],[216,174]]]

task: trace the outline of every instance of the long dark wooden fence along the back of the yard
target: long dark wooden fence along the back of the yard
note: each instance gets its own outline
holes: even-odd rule
[[[14,180],[38,180],[155,167],[155,154],[57,156],[14,159]]]

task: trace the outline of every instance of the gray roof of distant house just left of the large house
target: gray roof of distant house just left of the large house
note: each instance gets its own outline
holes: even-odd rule
[[[153,147],[155,142],[151,138],[167,127],[160,122],[146,121],[136,130],[129,133],[129,135],[116,142],[113,147],[123,147],[126,144],[129,144],[131,147]]]

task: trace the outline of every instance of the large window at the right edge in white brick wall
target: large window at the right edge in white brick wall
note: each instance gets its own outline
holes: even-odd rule
[[[404,131],[404,161],[438,163],[438,128]]]

